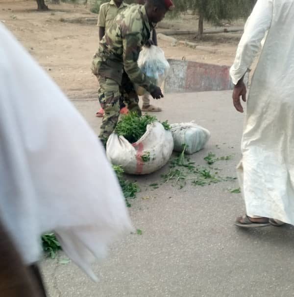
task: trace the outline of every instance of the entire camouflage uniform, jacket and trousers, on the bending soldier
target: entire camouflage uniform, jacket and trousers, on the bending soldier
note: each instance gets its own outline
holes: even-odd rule
[[[99,135],[104,143],[117,124],[120,97],[128,101],[126,104],[130,111],[141,115],[139,98],[133,84],[148,92],[154,91],[155,86],[137,63],[142,46],[150,38],[151,29],[145,7],[131,5],[106,30],[93,58],[91,69],[98,76],[99,101],[105,112]]]

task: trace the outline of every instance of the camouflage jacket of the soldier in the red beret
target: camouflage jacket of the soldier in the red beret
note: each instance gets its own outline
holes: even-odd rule
[[[92,61],[93,73],[121,84],[124,70],[134,84],[152,92],[155,86],[137,63],[152,29],[144,6],[127,7],[106,30]]]

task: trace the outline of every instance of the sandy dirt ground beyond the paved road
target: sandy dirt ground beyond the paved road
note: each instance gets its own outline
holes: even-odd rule
[[[97,97],[97,80],[90,70],[91,59],[98,47],[95,24],[68,23],[68,19],[97,18],[84,5],[49,4],[47,12],[36,11],[34,0],[1,0],[0,22],[4,23],[25,48],[48,71],[71,99]],[[240,22],[238,23],[240,25]],[[211,25],[206,24],[206,28]],[[184,15],[165,20],[158,32],[170,29],[197,29],[197,18]],[[193,36],[183,36],[184,40]],[[215,54],[185,46],[172,46],[159,40],[168,58],[231,65],[240,34],[209,35],[199,45],[213,46]]]

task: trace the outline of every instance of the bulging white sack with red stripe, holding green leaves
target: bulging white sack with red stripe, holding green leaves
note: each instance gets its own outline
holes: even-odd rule
[[[113,133],[106,144],[106,155],[114,165],[121,165],[125,173],[148,174],[163,167],[172,155],[172,132],[161,123],[147,125],[146,133],[135,143]]]

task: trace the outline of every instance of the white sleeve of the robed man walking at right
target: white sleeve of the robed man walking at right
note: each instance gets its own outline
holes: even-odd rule
[[[258,54],[265,38],[266,32],[270,28],[273,11],[273,0],[258,0],[250,17],[248,18],[244,34],[241,38],[230,75],[233,84],[238,81],[250,68],[254,58]]]

